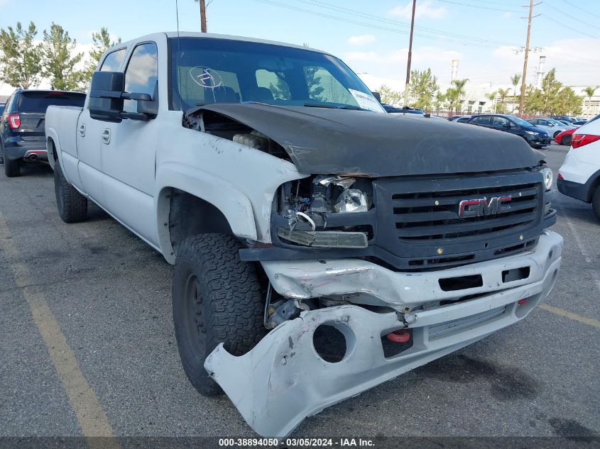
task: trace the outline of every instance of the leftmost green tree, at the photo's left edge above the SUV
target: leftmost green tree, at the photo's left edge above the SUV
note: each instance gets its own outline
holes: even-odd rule
[[[17,22],[0,31],[0,80],[12,87],[37,87],[42,78],[40,44],[33,40],[38,30],[33,22],[27,29]]]

